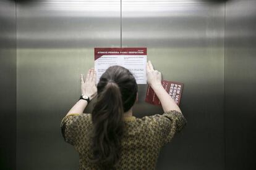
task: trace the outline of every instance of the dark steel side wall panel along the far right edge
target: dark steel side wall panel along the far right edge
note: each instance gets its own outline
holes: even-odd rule
[[[226,2],[226,169],[256,169],[256,1]]]

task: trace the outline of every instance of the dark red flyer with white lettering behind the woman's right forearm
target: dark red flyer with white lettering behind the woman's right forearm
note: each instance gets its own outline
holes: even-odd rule
[[[179,103],[181,101],[181,93],[182,93],[182,89],[183,89],[183,83],[163,80],[162,85],[163,85],[164,89],[166,90],[166,92],[168,92],[168,94],[171,96],[171,98],[173,98],[174,102],[177,105],[179,105]],[[153,105],[161,105],[160,100],[158,99],[155,92],[153,91],[153,89],[150,86],[148,86],[148,89],[147,89],[147,95],[146,95],[145,102],[151,103]]]

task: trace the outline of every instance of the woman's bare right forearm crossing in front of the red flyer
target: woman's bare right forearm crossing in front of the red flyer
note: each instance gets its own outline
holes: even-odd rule
[[[160,100],[164,111],[177,110],[181,112],[179,106],[174,102],[161,84],[152,85],[151,87]]]

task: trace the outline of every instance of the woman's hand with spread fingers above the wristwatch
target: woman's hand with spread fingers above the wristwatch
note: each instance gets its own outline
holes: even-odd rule
[[[96,87],[96,71],[94,69],[88,70],[87,76],[84,79],[83,74],[80,75],[81,78],[81,93],[82,95],[87,95],[90,100],[97,94]]]

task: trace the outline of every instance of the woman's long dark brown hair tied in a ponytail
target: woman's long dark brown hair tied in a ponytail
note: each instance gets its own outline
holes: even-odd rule
[[[92,111],[91,160],[101,169],[116,169],[124,133],[123,113],[134,105],[138,87],[129,70],[113,66],[103,73],[97,89],[97,102]]]

